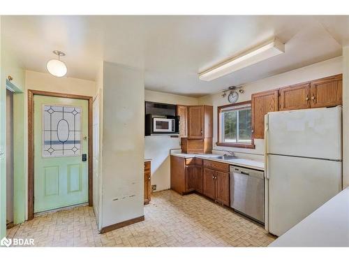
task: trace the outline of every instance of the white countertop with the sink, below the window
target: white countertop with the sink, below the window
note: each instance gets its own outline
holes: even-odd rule
[[[176,157],[184,157],[186,159],[192,158],[192,157],[198,157],[199,159],[207,159],[211,161],[217,161],[222,163],[229,163],[230,165],[237,165],[242,166],[245,168],[253,168],[257,170],[264,170],[264,162],[262,161],[255,161],[251,159],[243,159],[243,158],[237,158],[237,159],[230,159],[230,160],[223,160],[223,159],[214,159],[212,157],[218,157],[219,154],[184,154],[184,153],[172,153],[172,156]]]

